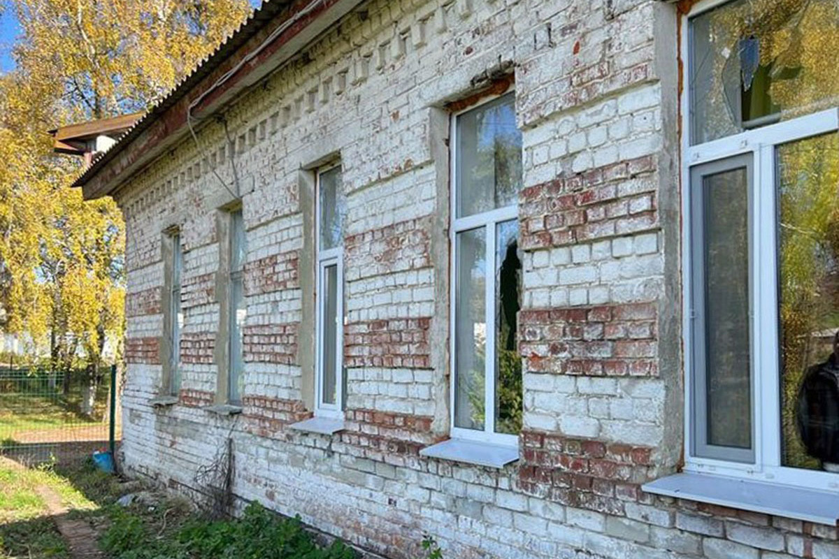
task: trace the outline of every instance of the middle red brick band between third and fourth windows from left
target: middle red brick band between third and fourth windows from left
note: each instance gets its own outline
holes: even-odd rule
[[[344,329],[344,365],[430,369],[431,318],[390,318],[349,323]]]

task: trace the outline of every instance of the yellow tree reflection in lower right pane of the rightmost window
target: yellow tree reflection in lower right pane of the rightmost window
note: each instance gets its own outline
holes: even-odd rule
[[[839,135],[784,144],[777,160],[783,463],[820,468],[798,435],[795,404],[839,330]]]

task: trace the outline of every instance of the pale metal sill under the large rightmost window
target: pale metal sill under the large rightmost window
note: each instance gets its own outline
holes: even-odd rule
[[[675,474],[644,484],[647,493],[766,515],[836,525],[839,494],[711,474]]]

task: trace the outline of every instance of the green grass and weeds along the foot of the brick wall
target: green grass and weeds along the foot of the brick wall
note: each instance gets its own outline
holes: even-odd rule
[[[208,520],[184,499],[152,494],[152,501],[122,507],[116,499],[143,489],[81,467],[21,468],[0,458],[0,559],[70,559],[36,489],[47,487],[99,533],[111,559],[355,559],[341,541],[320,546],[299,519],[248,505],[241,518]],[[442,559],[423,541],[423,559]],[[417,557],[420,559],[420,557]]]

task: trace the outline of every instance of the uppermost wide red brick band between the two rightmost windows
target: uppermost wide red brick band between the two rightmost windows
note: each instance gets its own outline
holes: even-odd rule
[[[630,159],[524,189],[524,250],[622,236],[658,226],[653,156]],[[644,183],[646,180],[647,184]],[[626,185],[630,181],[637,184]]]

